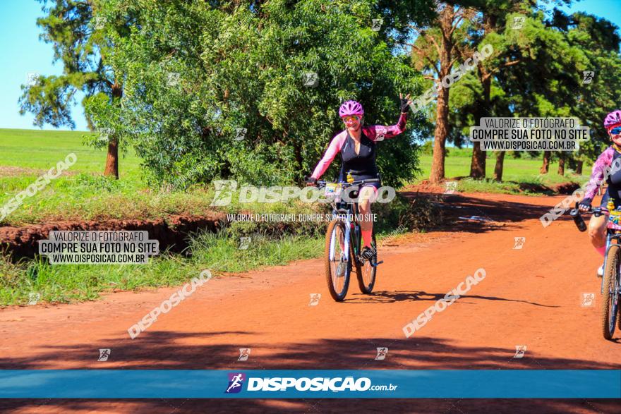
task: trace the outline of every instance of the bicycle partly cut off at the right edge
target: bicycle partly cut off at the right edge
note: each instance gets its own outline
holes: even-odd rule
[[[608,224],[606,224],[606,252],[604,255],[603,277],[601,285],[602,293],[602,331],[605,339],[612,339],[615,332],[615,322],[618,319],[618,327],[621,329],[621,206],[603,209],[591,207],[586,214],[600,217],[608,211]],[[579,231],[586,231],[586,224],[580,215],[578,203],[576,208],[569,212]],[[614,243],[613,243],[614,242]]]

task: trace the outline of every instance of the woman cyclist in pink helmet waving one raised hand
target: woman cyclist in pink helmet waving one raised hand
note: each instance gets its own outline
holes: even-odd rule
[[[327,151],[323,158],[315,167],[315,171],[308,179],[309,185],[314,183],[325,173],[330,163],[336,157],[337,153],[341,153],[342,164],[339,172],[339,183],[346,181],[347,173],[351,173],[354,181],[380,179],[378,166],[375,163],[375,142],[382,141],[385,138],[392,138],[399,135],[405,130],[407,121],[407,112],[410,95],[402,97],[401,100],[401,116],[397,124],[392,126],[363,126],[362,118],[364,110],[362,105],[356,101],[347,101],[341,105],[339,116],[345,124],[345,130],[338,133],[332,138]],[[370,203],[377,198],[378,188],[382,184],[378,181],[363,185],[358,190],[358,209],[363,219],[360,221],[362,239],[364,248],[361,252],[361,260],[368,259],[373,255],[371,250],[371,235],[373,234],[373,221],[370,220]]]

